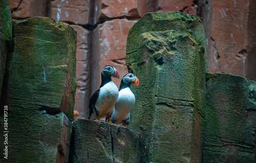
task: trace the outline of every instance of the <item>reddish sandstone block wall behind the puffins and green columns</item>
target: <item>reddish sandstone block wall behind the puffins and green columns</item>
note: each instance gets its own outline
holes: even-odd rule
[[[256,80],[255,0],[9,0],[12,17],[49,16],[77,31],[75,110],[87,118],[89,99],[109,64],[127,73],[126,37],[145,12],[178,10],[202,16],[210,73]],[[113,79],[119,87],[121,79]]]

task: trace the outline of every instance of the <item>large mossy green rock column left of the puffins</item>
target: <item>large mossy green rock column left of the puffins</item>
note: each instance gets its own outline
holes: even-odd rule
[[[68,162],[76,32],[46,17],[14,20],[12,27],[1,100],[2,133],[8,106],[8,161]],[[0,156],[1,162],[7,161],[3,152]]]

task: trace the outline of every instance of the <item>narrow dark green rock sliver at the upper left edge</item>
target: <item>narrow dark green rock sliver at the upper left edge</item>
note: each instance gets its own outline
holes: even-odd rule
[[[12,18],[8,0],[0,1],[0,97],[5,75],[6,55],[12,38]]]

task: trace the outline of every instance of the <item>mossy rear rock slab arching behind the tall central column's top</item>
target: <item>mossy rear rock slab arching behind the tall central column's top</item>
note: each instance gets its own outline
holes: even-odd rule
[[[206,58],[206,44],[202,19],[196,15],[184,14],[179,11],[146,13],[129,31],[126,48],[126,65],[130,72],[136,70],[138,58],[138,37],[144,32],[176,30],[190,33],[204,49]],[[205,69],[207,62],[205,60]],[[132,71],[133,70],[133,71]],[[134,71],[136,73],[136,71]]]

